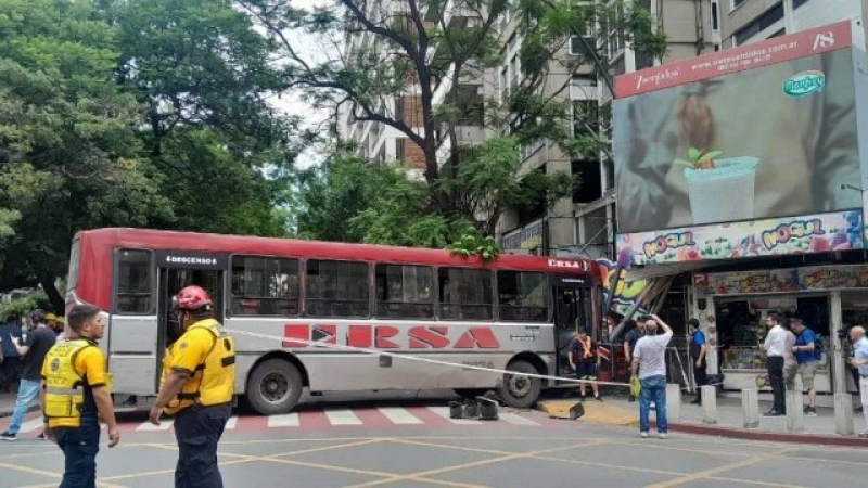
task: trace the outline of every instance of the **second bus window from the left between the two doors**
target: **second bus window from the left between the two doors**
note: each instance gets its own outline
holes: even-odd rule
[[[368,317],[368,265],[307,261],[305,311],[310,317]]]

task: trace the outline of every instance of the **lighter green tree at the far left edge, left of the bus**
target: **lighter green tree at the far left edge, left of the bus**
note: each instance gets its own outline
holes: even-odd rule
[[[39,282],[55,309],[76,230],[167,211],[117,47],[91,1],[0,1],[0,288]]]

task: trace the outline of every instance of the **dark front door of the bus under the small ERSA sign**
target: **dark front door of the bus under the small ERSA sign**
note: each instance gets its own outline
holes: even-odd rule
[[[573,377],[570,368],[570,350],[576,339],[576,331],[583,328],[592,333],[591,288],[580,278],[552,277],[554,304],[554,345],[558,349],[558,375]]]

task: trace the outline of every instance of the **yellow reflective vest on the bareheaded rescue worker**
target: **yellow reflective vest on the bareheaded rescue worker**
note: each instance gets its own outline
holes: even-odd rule
[[[52,427],[79,427],[82,413],[97,414],[93,391],[75,369],[76,357],[88,347],[97,347],[97,343],[76,338],[55,344],[46,355],[48,368],[42,413]]]

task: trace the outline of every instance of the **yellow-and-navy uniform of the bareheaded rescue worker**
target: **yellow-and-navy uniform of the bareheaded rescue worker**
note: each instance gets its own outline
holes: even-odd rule
[[[54,345],[42,363],[42,413],[65,457],[62,487],[94,487],[100,424],[93,388],[111,388],[105,357],[94,341]]]

